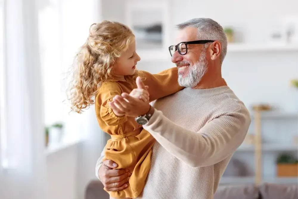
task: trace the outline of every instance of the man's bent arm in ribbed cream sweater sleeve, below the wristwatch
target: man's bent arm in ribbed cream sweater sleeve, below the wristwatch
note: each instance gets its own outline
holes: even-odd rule
[[[235,152],[250,124],[246,110],[226,113],[206,123],[198,132],[185,129],[155,110],[144,129],[168,152],[190,166],[215,164]]]

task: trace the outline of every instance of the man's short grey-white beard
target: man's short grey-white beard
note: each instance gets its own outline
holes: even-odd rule
[[[181,61],[179,65],[190,64],[188,61]],[[178,68],[178,71],[183,70]],[[178,72],[178,83],[182,87],[195,87],[201,81],[202,77],[208,70],[208,63],[206,61],[206,50],[202,51],[199,61],[197,61],[193,66],[189,66],[188,74],[186,77],[184,73]]]

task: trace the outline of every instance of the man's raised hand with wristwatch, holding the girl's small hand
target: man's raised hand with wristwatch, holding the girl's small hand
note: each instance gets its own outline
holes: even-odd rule
[[[144,83],[142,82],[140,77],[136,78],[136,85],[138,89],[145,89]],[[149,109],[150,104],[149,101],[143,101],[138,98],[131,97],[128,93],[122,93],[120,95],[116,95],[112,102],[110,102],[110,106],[113,111],[116,112],[124,112],[125,115],[131,117],[137,117],[139,115],[145,115]]]

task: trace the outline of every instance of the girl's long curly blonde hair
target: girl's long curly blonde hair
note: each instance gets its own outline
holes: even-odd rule
[[[92,24],[85,44],[80,47],[72,65],[73,75],[67,89],[71,111],[78,113],[94,104],[101,84],[113,78],[113,65],[127,50],[134,34],[124,24],[102,21]],[[131,78],[135,79],[137,71]]]

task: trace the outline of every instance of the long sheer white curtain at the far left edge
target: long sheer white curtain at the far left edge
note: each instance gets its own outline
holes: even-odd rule
[[[3,10],[0,198],[44,199],[46,165],[37,7],[35,0],[6,0]]]

